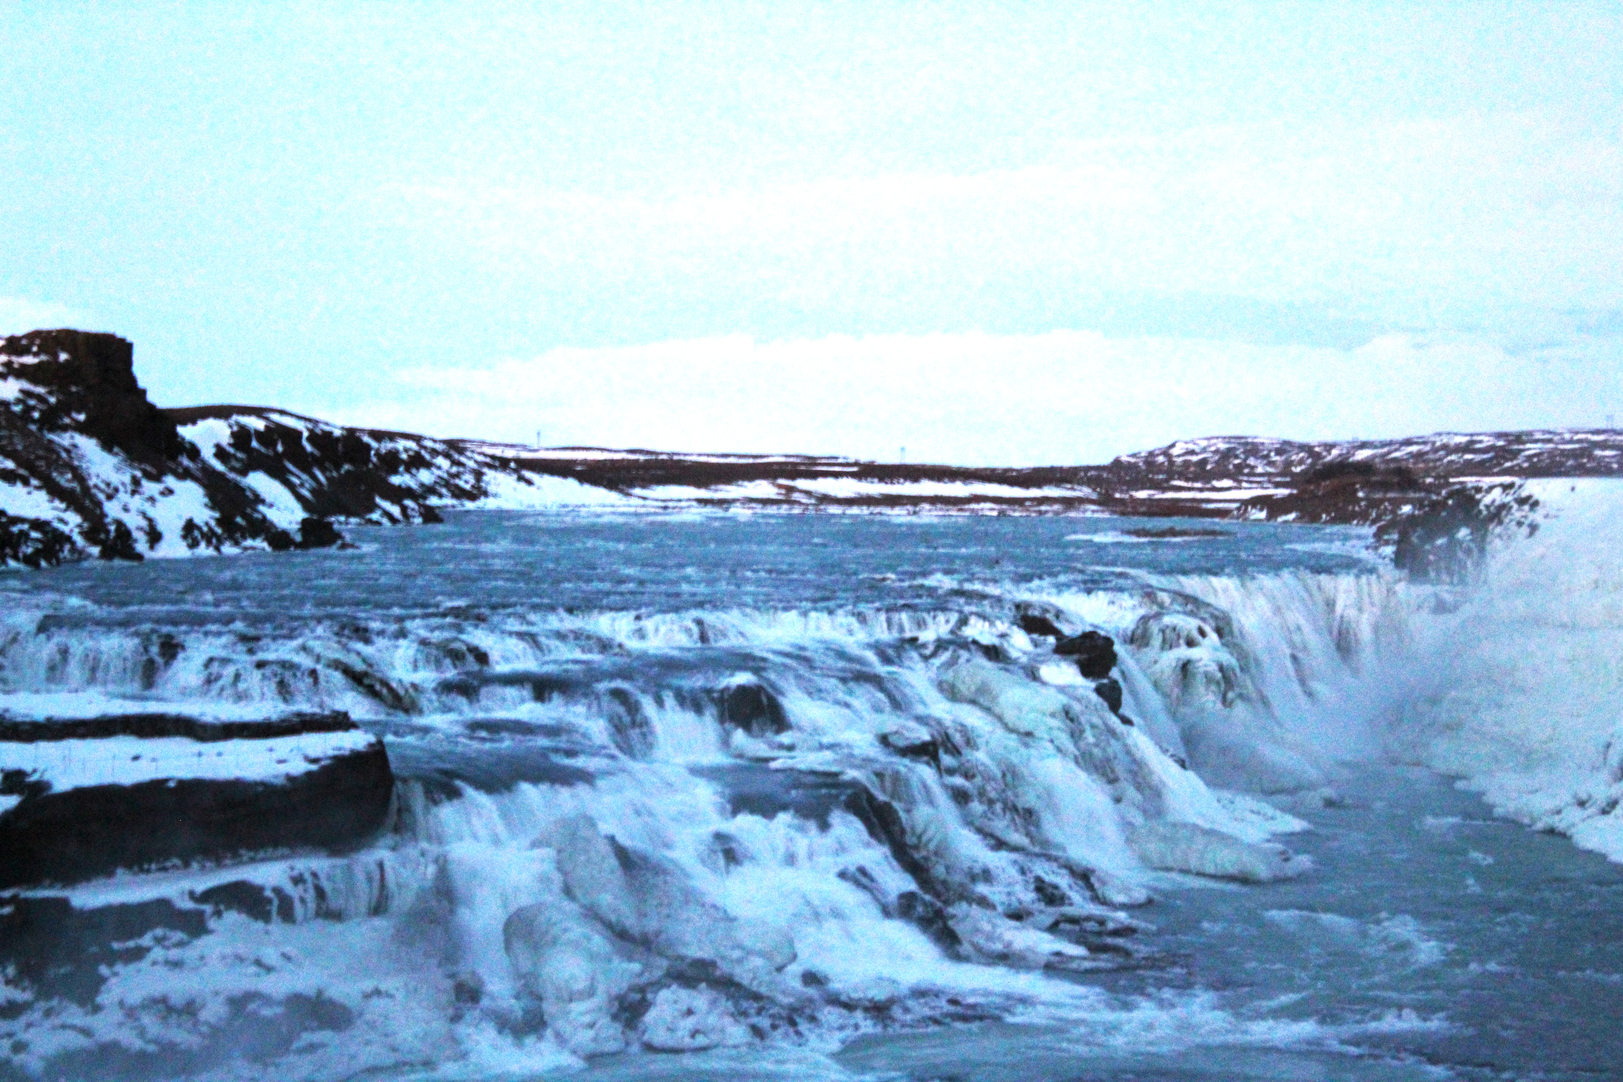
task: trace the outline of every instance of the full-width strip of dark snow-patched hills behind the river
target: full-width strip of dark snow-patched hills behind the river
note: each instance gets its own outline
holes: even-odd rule
[[[349,428],[258,406],[159,409],[131,360],[130,342],[112,334],[0,341],[5,563],[284,550],[338,543],[334,522],[581,505],[1342,522],[1378,527],[1412,563],[1449,535],[1526,511],[1522,479],[1623,475],[1623,432],[1612,430],[1342,443],[1214,436],[1102,466],[1029,469],[539,449]]]

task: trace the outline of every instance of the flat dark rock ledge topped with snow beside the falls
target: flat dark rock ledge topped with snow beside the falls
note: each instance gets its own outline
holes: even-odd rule
[[[0,719],[0,889],[344,852],[383,827],[393,790],[383,743],[347,714]]]

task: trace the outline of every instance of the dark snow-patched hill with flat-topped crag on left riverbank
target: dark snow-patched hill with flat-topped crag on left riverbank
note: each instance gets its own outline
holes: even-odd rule
[[[162,410],[131,362],[112,334],[0,339],[0,563],[307,548],[339,542],[334,521],[626,500],[425,436],[258,407]]]

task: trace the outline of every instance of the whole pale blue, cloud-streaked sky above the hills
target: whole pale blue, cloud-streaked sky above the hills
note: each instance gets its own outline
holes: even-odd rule
[[[1623,415],[1618,3],[0,11],[0,329],[166,404],[1006,462]]]

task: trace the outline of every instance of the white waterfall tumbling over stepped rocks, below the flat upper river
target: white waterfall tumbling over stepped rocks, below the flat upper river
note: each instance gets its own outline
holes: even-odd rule
[[[342,709],[398,788],[354,855],[67,891],[157,923],[83,964],[88,999],[8,970],[0,1028],[26,1069],[253,1046],[338,1077],[1092,1017],[1105,999],[1074,978],[1151,964],[1133,907],[1157,876],[1307,868],[1285,809],[1380,753],[1425,597],[1284,573],[255,629],[13,612],[11,712]],[[1022,603],[1115,639],[1118,707]]]

